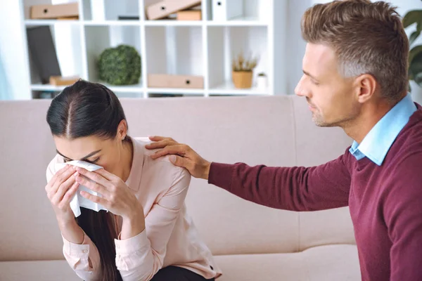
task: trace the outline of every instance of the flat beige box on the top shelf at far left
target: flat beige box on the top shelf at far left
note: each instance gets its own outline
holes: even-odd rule
[[[68,18],[79,16],[77,2],[58,5],[36,5],[31,6],[30,18]]]

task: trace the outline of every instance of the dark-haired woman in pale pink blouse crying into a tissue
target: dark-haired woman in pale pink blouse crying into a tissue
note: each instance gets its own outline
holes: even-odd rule
[[[169,159],[153,160],[147,142],[127,135],[127,121],[115,94],[79,80],[51,102],[47,122],[58,154],[47,168],[46,192],[63,236],[63,254],[84,280],[214,280],[221,272],[200,241],[184,199],[188,172]],[[83,160],[103,166],[87,171],[58,163]],[[81,208],[80,194],[107,211]]]

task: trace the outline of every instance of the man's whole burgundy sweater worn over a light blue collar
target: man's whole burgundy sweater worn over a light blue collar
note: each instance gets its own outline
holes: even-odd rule
[[[382,166],[347,149],[313,167],[212,163],[209,183],[276,209],[350,207],[362,280],[422,280],[422,110],[410,117]]]

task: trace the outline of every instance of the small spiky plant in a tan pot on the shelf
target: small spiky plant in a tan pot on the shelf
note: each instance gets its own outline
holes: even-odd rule
[[[243,53],[239,53],[231,63],[231,79],[238,89],[249,89],[252,86],[253,69],[257,66],[258,58],[245,59]]]

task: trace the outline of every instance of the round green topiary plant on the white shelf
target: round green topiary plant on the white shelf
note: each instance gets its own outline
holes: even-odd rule
[[[98,58],[101,81],[112,85],[138,84],[141,77],[141,55],[132,46],[106,48]]]

